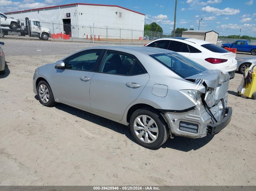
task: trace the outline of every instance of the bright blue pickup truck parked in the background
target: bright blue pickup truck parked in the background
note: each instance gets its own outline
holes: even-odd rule
[[[256,55],[256,45],[250,45],[247,40],[237,40],[233,43],[221,44],[222,48],[236,48],[238,52],[251,53]]]

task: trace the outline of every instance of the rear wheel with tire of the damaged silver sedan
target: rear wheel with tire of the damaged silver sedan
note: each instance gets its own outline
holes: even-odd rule
[[[135,141],[149,149],[160,147],[169,135],[169,129],[159,112],[151,108],[141,108],[132,115],[129,123]]]

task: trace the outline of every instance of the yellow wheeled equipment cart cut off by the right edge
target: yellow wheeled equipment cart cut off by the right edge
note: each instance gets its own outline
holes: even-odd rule
[[[256,100],[256,66],[251,66],[247,68],[244,72],[244,81],[243,88],[241,84],[238,87],[238,95],[244,95],[246,97]]]

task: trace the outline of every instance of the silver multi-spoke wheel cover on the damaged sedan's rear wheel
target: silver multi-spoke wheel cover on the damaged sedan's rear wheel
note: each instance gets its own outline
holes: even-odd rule
[[[154,119],[147,115],[136,117],[133,129],[136,136],[145,143],[152,143],[158,137],[158,127]]]

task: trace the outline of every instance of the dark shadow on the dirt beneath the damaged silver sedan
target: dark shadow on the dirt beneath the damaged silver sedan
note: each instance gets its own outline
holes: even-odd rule
[[[38,95],[35,96],[35,99],[39,100]],[[66,113],[69,113],[73,116],[78,117],[78,120],[79,120],[79,118],[81,118],[86,121],[95,123],[99,126],[103,126],[105,128],[111,129],[115,132],[121,133],[121,134],[125,135],[127,138],[129,138],[132,142],[136,143],[130,133],[128,126],[122,125],[120,123],[117,123],[110,119],[106,119],[101,116],[97,116],[92,113],[77,109],[75,107],[65,105],[63,103],[58,103],[53,107],[55,107],[58,110],[62,110]],[[188,152],[191,150],[197,150],[197,149],[203,147],[204,145],[206,145],[208,142],[210,142],[211,139],[213,138],[213,136],[214,135],[208,135],[206,137],[197,138],[197,139],[175,136],[175,138],[173,138],[173,139],[168,138],[168,140],[161,147],[156,148],[156,149],[151,149],[151,150],[158,150],[160,148],[171,148],[171,149],[184,151],[184,152]]]

